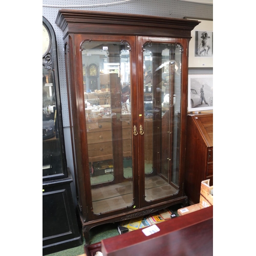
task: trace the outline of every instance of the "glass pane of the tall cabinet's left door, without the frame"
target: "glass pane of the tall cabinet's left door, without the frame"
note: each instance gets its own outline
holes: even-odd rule
[[[130,50],[127,41],[81,45],[94,214],[133,204]]]

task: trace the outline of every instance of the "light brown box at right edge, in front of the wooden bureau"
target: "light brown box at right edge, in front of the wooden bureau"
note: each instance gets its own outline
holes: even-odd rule
[[[214,205],[214,186],[210,186],[210,179],[201,182],[200,209]]]

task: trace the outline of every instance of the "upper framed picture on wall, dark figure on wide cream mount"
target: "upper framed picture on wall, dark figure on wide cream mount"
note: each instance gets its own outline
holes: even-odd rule
[[[213,68],[214,32],[213,20],[184,17],[201,22],[191,31],[189,41],[188,68]]]

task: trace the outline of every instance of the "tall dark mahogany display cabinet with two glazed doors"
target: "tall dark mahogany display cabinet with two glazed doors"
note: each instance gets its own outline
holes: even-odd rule
[[[77,207],[90,228],[184,194],[187,59],[198,21],[59,10]]]

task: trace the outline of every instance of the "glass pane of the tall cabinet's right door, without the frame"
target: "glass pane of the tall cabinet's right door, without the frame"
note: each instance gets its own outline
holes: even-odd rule
[[[182,47],[146,42],[142,51],[144,185],[151,202],[179,192]]]

